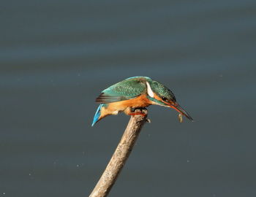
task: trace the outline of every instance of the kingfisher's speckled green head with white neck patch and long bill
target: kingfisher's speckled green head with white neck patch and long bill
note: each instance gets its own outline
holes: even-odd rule
[[[192,117],[177,103],[173,92],[165,87],[165,85],[156,81],[151,81],[147,83],[147,91],[148,99],[155,104],[176,109],[181,115],[186,116],[189,120],[193,120]]]

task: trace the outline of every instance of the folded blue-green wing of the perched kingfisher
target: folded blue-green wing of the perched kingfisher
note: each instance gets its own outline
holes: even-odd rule
[[[131,77],[103,90],[96,101],[101,104],[108,104],[134,99],[142,93],[145,93],[145,91],[146,77]]]

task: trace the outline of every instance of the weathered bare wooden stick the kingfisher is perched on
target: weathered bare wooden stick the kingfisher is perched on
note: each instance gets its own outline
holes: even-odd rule
[[[147,110],[142,109],[143,115],[132,116],[129,120],[127,128],[124,131],[121,141],[116,147],[115,152],[110,159],[108,166],[100,177],[94,190],[89,197],[105,197],[108,196],[110,189],[116,182],[118,174],[123,168],[129,153],[132,151],[132,147],[135,144],[136,139],[140,134],[140,130],[146,122]],[[135,112],[141,112],[140,109],[136,109]]]

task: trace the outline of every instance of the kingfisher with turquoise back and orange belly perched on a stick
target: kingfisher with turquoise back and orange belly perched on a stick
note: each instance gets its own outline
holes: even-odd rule
[[[151,80],[149,77],[129,77],[111,85],[102,91],[96,102],[99,103],[99,107],[91,126],[103,117],[118,115],[118,112],[124,112],[126,115],[145,116],[143,112],[135,112],[134,109],[145,108],[151,104],[176,109],[179,117],[184,115],[193,121],[192,117],[177,103],[173,92],[162,83]]]

